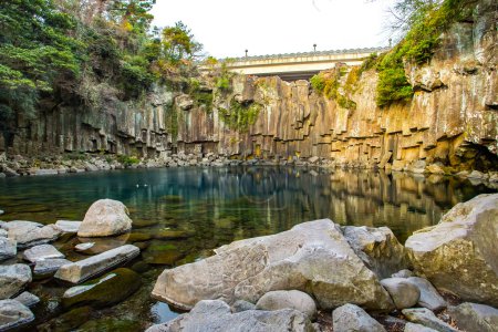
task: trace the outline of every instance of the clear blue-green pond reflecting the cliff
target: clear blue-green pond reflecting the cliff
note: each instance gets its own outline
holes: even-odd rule
[[[1,179],[0,209],[6,210],[1,216],[6,221],[53,224],[82,220],[100,198],[123,201],[134,221],[132,232],[91,239],[96,245],[90,253],[136,245],[142,253],[126,267],[141,274],[142,287],[111,308],[80,309],[55,320],[64,313],[60,299],[68,286],[54,279],[37,280],[29,291],[42,302],[33,309],[37,320],[25,330],[53,319],[45,330],[72,330],[68,323],[72,321],[80,331],[142,331],[178,314],[151,298],[158,274],[165,268],[209,257],[219,246],[320,218],[341,225],[387,226],[404,242],[414,230],[436,224],[457,203],[491,191],[484,185],[434,175],[186,167]],[[70,260],[80,260],[87,256],[76,252],[74,246],[84,241],[89,239],[64,236],[54,246]]]

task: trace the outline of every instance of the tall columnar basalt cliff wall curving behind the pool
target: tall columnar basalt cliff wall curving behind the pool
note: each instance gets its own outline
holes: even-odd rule
[[[415,160],[459,169],[496,167],[498,151],[498,37],[491,1],[476,20],[442,35],[424,66],[406,64],[415,95],[408,104],[375,105],[375,71],[363,72],[354,111],[317,95],[307,81],[238,76],[232,91],[214,89],[212,105],[157,87],[141,102],[107,101],[96,108],[44,105],[35,120],[19,120],[19,135],[0,138],[0,152],[110,152],[157,157],[215,153],[230,157],[323,157],[350,166],[403,169]],[[206,91],[205,91],[206,93]],[[234,103],[261,105],[246,131],[230,128]],[[495,164],[495,165],[494,165]]]

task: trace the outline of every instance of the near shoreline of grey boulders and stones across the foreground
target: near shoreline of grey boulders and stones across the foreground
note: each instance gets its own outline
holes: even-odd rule
[[[496,332],[497,217],[498,194],[490,194],[457,204],[404,246],[387,227],[330,219],[239,240],[164,270],[152,295],[189,312],[147,331]],[[106,308],[133,294],[142,280],[126,266],[139,257],[138,247],[74,260],[50,245],[77,235],[87,242],[72,250],[85,251],[132,227],[127,208],[111,199],[95,201],[83,221],[0,221],[0,331],[35,319],[30,308],[40,299],[25,291],[34,280],[54,278],[66,287],[64,313],[41,330],[68,323],[64,315],[86,305]]]

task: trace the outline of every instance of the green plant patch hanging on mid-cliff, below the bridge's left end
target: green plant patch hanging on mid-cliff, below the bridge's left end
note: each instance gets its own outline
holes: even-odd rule
[[[258,120],[262,105],[258,103],[239,103],[230,101],[230,110],[219,107],[220,118],[234,131],[245,133]]]

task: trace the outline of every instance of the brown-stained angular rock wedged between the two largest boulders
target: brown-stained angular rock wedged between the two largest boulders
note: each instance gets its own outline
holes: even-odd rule
[[[354,252],[378,278],[387,278],[408,267],[405,247],[387,227],[346,226],[342,230]]]

